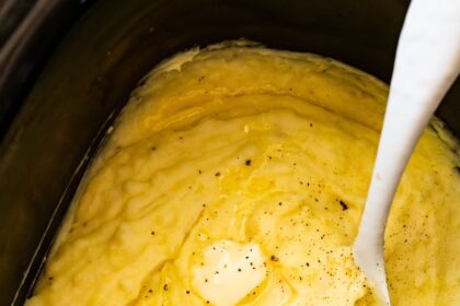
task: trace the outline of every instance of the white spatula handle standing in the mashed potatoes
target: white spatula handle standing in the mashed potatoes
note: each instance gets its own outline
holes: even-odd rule
[[[398,44],[379,150],[354,245],[355,262],[388,305],[383,234],[391,202],[422,131],[459,72],[460,0],[413,0]]]

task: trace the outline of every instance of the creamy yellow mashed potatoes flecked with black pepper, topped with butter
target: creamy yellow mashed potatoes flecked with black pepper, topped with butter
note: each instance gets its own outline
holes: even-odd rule
[[[27,306],[375,305],[352,245],[388,87],[337,61],[192,50],[139,86]],[[457,141],[425,130],[390,214],[394,305],[460,305]]]

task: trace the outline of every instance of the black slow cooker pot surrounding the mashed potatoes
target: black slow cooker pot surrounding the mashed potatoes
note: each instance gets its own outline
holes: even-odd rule
[[[0,1],[0,304],[22,305],[91,156],[137,82],[246,38],[389,82],[407,0]],[[437,111],[460,132],[460,81]]]

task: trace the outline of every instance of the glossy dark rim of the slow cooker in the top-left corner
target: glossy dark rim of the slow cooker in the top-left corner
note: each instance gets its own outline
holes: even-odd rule
[[[0,144],[68,28],[94,1],[10,0],[0,8]]]

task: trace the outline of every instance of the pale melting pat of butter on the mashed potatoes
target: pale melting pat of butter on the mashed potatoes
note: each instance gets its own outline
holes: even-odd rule
[[[204,250],[204,261],[193,274],[195,291],[204,299],[230,306],[266,278],[265,258],[257,244],[220,240]]]

